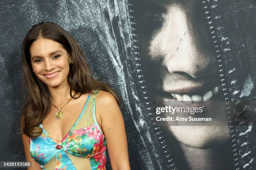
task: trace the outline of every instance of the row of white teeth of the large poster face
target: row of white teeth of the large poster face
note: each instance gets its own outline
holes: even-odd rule
[[[213,95],[217,94],[219,91],[219,87],[216,86],[212,90],[207,91],[204,95],[179,95],[179,94],[174,94],[172,93],[172,96],[176,98],[178,101],[184,101],[186,104],[191,104],[192,102],[197,102],[197,101],[208,101],[212,98]]]

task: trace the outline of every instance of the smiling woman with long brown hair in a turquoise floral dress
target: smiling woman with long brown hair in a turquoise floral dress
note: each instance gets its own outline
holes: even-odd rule
[[[51,22],[34,25],[23,41],[22,60],[29,92],[21,116],[28,169],[105,170],[108,146],[113,170],[129,170],[118,99],[92,78],[74,38]]]

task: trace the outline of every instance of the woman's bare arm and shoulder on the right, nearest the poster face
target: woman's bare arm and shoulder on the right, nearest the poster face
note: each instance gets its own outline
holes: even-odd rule
[[[95,114],[100,115],[111,168],[113,170],[130,170],[123,115],[113,95],[105,91],[100,91],[97,94]]]

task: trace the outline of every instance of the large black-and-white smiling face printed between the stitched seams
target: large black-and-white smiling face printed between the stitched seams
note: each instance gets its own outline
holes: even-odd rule
[[[132,2],[138,51],[151,101],[181,101],[182,105],[188,107],[204,106],[206,110],[211,108],[205,112],[205,116],[215,117],[214,121],[218,121],[216,113],[225,112],[224,105],[212,109],[212,101],[224,99],[221,93],[217,57],[202,2],[199,0],[134,0]],[[197,116],[197,114],[192,115],[192,117]],[[175,147],[172,144],[173,140],[176,140],[177,145],[180,146],[183,155],[177,158],[177,162],[183,164],[180,165],[182,168],[223,169],[218,165],[221,161],[212,155],[230,154],[227,151],[230,149],[227,147],[230,140],[227,117],[221,126],[207,126],[202,122],[201,126],[166,125],[162,129],[166,140],[169,141],[169,144],[167,142],[169,150]],[[220,149],[223,147],[224,153]],[[211,160],[210,162],[217,166],[214,168],[211,163],[204,166],[205,159]]]

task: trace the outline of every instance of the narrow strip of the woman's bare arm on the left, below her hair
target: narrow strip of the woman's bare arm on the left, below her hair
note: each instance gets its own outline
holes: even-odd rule
[[[22,141],[23,141],[26,160],[27,160],[27,162],[30,162],[30,166],[28,167],[28,170],[41,170],[41,165],[38,164],[35,160],[33,160],[33,158],[31,158],[30,144],[29,144],[28,136],[23,134]]]

